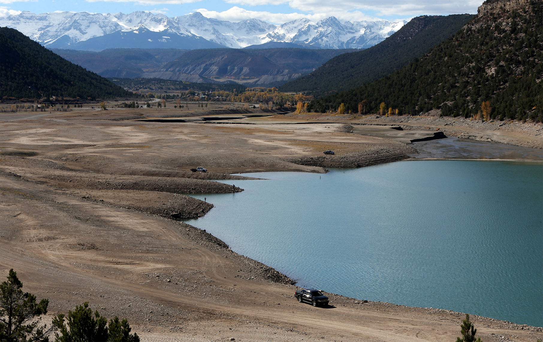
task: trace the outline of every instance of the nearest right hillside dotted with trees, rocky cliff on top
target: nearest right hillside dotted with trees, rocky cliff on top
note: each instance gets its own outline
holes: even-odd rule
[[[409,66],[309,110],[543,120],[543,2],[487,1],[456,35]]]

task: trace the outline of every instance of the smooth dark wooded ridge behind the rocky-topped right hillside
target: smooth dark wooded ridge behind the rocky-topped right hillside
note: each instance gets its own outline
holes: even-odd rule
[[[405,67],[462,28],[473,15],[413,18],[386,40],[363,51],[332,58],[309,75],[280,87],[283,92],[315,96],[345,91]]]

